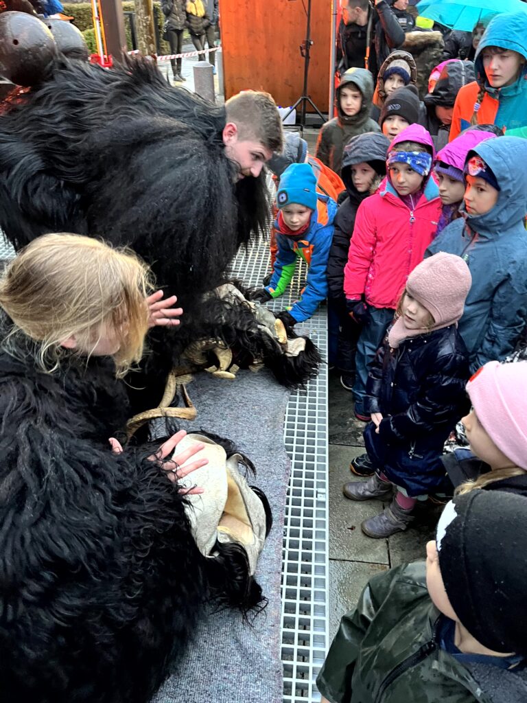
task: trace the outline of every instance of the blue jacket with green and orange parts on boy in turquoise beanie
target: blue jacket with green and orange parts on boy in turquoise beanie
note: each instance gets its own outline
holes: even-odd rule
[[[273,277],[266,290],[273,298],[283,294],[294,276],[297,259],[308,265],[306,287],[289,313],[297,322],[310,318],[327,297],[327,259],[333,239],[333,220],[337,214],[337,203],[326,195],[318,194],[318,209],[311,215],[307,232],[299,237],[280,233],[278,219],[275,221],[276,245]]]

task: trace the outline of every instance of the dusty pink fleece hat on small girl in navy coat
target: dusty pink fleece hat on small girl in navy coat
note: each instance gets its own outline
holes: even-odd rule
[[[457,322],[472,285],[469,267],[461,257],[438,252],[424,259],[408,276],[406,290],[434,318],[434,328]]]

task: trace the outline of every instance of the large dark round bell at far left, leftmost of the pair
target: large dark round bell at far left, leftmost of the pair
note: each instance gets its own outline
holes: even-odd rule
[[[37,84],[57,55],[44,22],[23,12],[0,14],[0,75],[19,86]]]

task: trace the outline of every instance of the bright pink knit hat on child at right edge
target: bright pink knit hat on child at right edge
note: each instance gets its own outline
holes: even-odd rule
[[[467,383],[474,411],[494,444],[527,470],[527,361],[489,361]]]

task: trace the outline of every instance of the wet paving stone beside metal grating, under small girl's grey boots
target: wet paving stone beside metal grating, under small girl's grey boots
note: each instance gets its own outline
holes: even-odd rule
[[[367,537],[360,529],[363,520],[382,511],[382,501],[357,503],[342,494],[346,481],[361,480],[350,472],[349,462],[363,451],[361,447],[330,444],[330,559],[388,565],[387,541]]]

